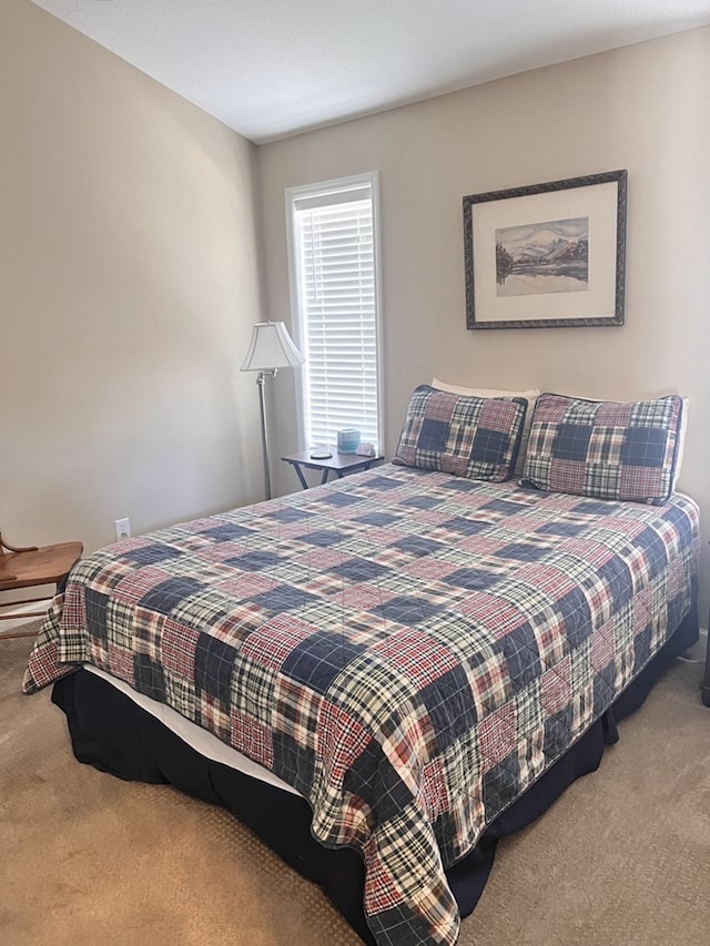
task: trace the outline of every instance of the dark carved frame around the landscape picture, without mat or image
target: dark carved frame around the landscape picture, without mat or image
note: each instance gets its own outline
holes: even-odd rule
[[[464,197],[464,266],[466,276],[466,327],[467,328],[559,328],[560,326],[623,325],[623,288],[626,272],[626,170],[588,174],[582,177],[569,177],[564,181],[549,181],[525,187],[511,187],[506,191],[489,191]],[[476,272],[474,268],[474,214],[477,204],[491,201],[515,201],[536,194],[549,194],[575,187],[589,187],[597,184],[617,183],[617,227],[616,227],[616,279],[615,307],[610,316],[569,317],[569,318],[519,318],[490,321],[476,314]]]

